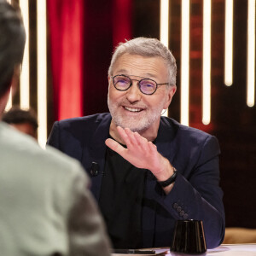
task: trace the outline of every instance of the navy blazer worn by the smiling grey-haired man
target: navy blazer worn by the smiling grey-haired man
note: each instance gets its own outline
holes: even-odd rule
[[[91,177],[91,190],[97,201],[110,122],[110,113],[61,120],[55,122],[47,142],[79,160],[87,172],[93,161],[99,164],[99,175]],[[218,140],[204,131],[161,117],[155,145],[177,169],[177,179],[166,195],[148,171],[142,216],[143,247],[170,247],[175,220],[186,218],[202,220],[207,247],[218,247],[224,239],[225,226]]]

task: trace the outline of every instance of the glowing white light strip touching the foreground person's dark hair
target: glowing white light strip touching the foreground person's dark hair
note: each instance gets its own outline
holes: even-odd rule
[[[26,30],[26,44],[20,73],[20,108],[29,108],[29,9],[28,0],[20,0],[20,9]]]

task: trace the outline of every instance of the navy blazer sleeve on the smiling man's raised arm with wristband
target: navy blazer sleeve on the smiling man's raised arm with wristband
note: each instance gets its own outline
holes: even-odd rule
[[[190,169],[189,172],[177,170],[176,181],[168,195],[163,193],[158,184],[155,191],[159,191],[156,194],[160,205],[165,207],[173,218],[202,220],[207,247],[218,247],[224,240],[225,220],[223,192],[218,184],[220,150],[217,138],[207,137],[198,151],[200,154],[196,155],[198,159],[195,166],[187,168]],[[194,154],[191,153],[190,156],[193,157]]]

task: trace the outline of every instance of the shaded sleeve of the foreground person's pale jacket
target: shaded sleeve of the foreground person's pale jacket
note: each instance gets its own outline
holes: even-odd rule
[[[110,243],[96,202],[82,171],[73,181],[73,204],[68,215],[69,255],[110,255]]]

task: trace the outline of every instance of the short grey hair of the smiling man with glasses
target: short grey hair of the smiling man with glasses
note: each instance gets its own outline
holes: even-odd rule
[[[134,38],[131,40],[126,40],[125,43],[119,43],[113,52],[112,60],[108,68],[108,76],[113,75],[113,66],[119,56],[126,53],[145,57],[161,57],[164,61],[166,61],[166,66],[168,69],[168,83],[170,85],[176,85],[176,60],[172,55],[171,50],[156,38]]]

